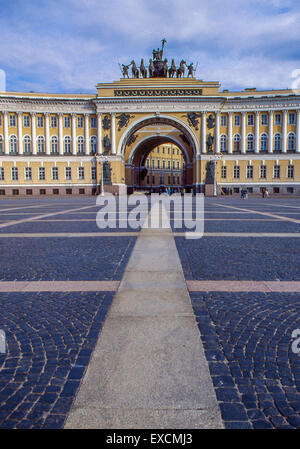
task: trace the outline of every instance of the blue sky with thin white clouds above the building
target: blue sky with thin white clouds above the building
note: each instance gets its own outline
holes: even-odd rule
[[[221,90],[290,88],[300,69],[299,0],[0,0],[0,30],[8,91],[96,93],[162,38]]]

